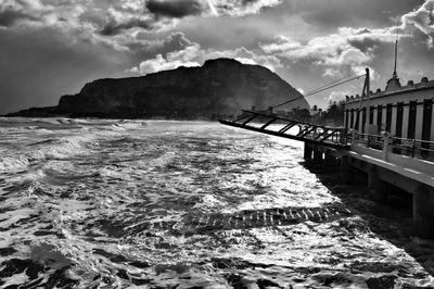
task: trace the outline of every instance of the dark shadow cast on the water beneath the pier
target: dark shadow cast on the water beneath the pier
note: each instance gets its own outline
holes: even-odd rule
[[[434,276],[434,240],[412,234],[412,196],[395,186],[387,186],[387,201],[376,201],[374,191],[367,187],[367,175],[356,174],[354,185],[343,185],[339,165],[323,166],[312,162],[301,163],[315,174],[330,192],[339,197],[368,225],[380,239],[393,243],[411,255]]]

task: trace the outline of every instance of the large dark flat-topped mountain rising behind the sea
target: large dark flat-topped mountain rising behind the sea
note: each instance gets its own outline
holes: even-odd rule
[[[299,99],[292,108],[309,109],[296,89],[268,68],[216,59],[200,67],[98,79],[77,95],[61,97],[58,106],[33,108],[10,116],[195,118],[239,114],[253,105],[266,109],[295,98]]]

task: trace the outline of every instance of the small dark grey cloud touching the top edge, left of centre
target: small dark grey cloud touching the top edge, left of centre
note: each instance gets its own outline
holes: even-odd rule
[[[199,0],[149,0],[145,5],[157,17],[182,18],[204,12]]]

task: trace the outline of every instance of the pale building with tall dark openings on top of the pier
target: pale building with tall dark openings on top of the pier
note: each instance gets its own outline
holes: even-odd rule
[[[409,80],[401,86],[394,74],[383,91],[378,89],[370,95],[369,116],[365,97],[346,97],[345,128],[367,134],[369,124],[378,135],[388,131],[395,138],[427,143],[434,140],[433,98],[434,80],[423,77],[418,84]]]

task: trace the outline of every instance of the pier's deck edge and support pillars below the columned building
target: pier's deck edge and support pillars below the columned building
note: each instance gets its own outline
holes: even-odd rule
[[[337,163],[344,184],[352,185],[358,174],[366,174],[368,192],[381,203],[387,202],[390,185],[411,193],[414,234],[434,238],[434,163],[394,154],[387,143],[383,150],[354,144],[349,151],[305,143],[305,159],[327,169]]]

